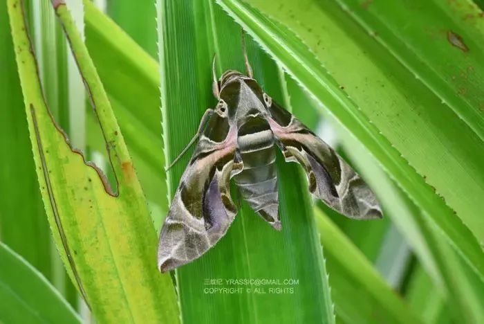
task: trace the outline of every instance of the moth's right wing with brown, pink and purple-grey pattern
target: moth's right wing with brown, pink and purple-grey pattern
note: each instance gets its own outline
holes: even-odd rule
[[[329,145],[276,102],[269,123],[286,161],[306,171],[309,190],[346,217],[374,219],[382,210],[369,186]]]

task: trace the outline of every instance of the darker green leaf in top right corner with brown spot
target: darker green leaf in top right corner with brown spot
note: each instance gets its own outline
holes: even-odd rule
[[[477,6],[465,0],[337,2],[484,140],[484,24]]]

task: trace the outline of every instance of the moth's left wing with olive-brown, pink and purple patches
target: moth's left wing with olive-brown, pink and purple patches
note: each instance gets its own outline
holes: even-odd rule
[[[225,235],[237,213],[230,178],[241,172],[235,161],[236,129],[214,114],[171,201],[160,233],[158,267],[166,272],[195,260]]]

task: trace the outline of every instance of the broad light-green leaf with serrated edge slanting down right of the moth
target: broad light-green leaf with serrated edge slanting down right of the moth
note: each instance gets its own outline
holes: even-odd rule
[[[375,156],[484,279],[481,246],[435,192],[468,192],[465,197],[472,204],[467,208],[475,211],[474,217],[458,216],[473,220],[469,222],[472,231],[480,240],[484,237],[484,226],[477,226],[483,219],[476,217],[484,207],[479,167],[484,164],[484,154],[479,153],[484,152],[484,143],[472,129],[454,118],[454,111],[445,109],[440,98],[369,35],[355,28],[332,1],[278,1],[277,5],[250,1],[261,12],[241,1],[218,2]],[[301,21],[324,24],[308,26]],[[440,186],[434,189],[429,183],[436,182]]]

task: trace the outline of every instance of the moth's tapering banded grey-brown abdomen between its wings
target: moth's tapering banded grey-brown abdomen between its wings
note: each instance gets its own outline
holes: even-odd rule
[[[266,120],[250,118],[239,127],[237,151],[243,170],[234,176],[236,185],[250,207],[274,228],[280,228],[274,135]]]

